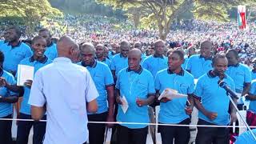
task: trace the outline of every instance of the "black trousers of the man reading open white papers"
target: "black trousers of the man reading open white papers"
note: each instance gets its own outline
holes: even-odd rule
[[[186,118],[179,125],[189,125],[190,118]],[[190,141],[189,126],[159,126],[162,144],[187,144]]]

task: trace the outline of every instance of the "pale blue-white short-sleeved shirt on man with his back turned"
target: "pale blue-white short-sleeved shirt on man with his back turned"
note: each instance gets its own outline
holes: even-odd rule
[[[98,91],[85,67],[69,58],[55,58],[34,75],[29,103],[44,106],[47,122],[44,144],[81,144],[88,139],[86,102]]]

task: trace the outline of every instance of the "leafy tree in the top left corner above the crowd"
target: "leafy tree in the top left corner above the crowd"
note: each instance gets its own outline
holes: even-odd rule
[[[28,26],[28,34],[44,18],[62,16],[62,12],[50,6],[47,0],[3,0],[0,2],[0,16],[18,16]]]

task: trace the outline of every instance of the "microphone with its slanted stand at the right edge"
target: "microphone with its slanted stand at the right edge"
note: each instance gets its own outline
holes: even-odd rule
[[[222,88],[223,88],[223,86],[224,86],[224,85],[223,85],[223,82],[224,82],[224,81],[218,82],[218,85],[221,86]],[[225,83],[226,83],[226,82],[225,82]],[[230,102],[233,104],[235,110],[237,110],[238,115],[242,118],[242,122],[245,123],[246,128],[250,131],[250,134],[254,137],[254,140],[256,141],[256,136],[255,136],[255,134],[254,134],[253,131],[250,129],[250,126],[248,126],[248,124],[247,124],[247,122],[246,122],[246,119],[242,117],[242,114],[239,112],[236,103],[235,103],[235,102],[233,101],[233,99],[232,99],[232,98],[236,98],[236,97],[235,97],[235,96],[231,96],[231,94],[229,93],[228,90],[226,90],[226,92],[228,93],[227,95],[228,95],[228,97],[230,98]],[[236,98],[236,99],[238,99],[238,98]]]

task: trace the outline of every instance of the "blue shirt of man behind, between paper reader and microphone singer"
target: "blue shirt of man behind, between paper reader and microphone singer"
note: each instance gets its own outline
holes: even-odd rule
[[[189,58],[186,64],[186,70],[189,70],[190,74],[192,74],[194,78],[199,78],[209,70],[213,69],[211,64],[211,59],[206,59],[199,54],[195,54]]]

